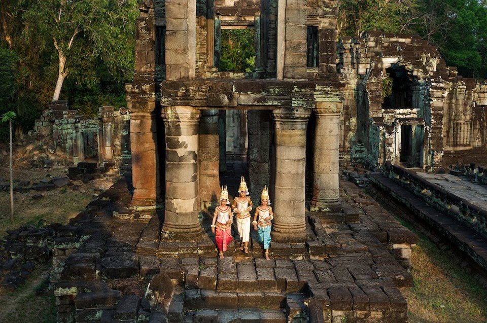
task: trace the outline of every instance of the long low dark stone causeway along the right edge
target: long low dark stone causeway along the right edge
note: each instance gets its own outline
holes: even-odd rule
[[[415,175],[428,182],[427,190],[417,189],[417,184],[414,190],[411,183],[401,185],[401,181],[394,181],[380,173],[371,174],[371,179],[379,190],[387,192],[388,196],[410,210],[412,221],[424,225],[442,241],[448,242],[485,275],[487,242],[482,232],[485,227],[480,224],[485,223],[483,214],[487,211],[487,189],[447,174]]]

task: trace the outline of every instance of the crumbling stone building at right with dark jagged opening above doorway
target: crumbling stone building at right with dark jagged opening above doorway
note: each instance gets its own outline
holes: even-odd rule
[[[459,77],[434,47],[406,34],[343,38],[338,54],[342,156],[425,169],[485,156],[483,81]]]

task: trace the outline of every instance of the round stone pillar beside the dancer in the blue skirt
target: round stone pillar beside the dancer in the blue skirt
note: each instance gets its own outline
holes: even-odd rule
[[[305,108],[281,108],[275,121],[274,224],[278,242],[304,242],[306,126],[311,114]]]

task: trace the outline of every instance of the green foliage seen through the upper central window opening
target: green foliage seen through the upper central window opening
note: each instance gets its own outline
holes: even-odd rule
[[[252,71],[255,67],[254,31],[223,29],[221,36],[221,71]]]

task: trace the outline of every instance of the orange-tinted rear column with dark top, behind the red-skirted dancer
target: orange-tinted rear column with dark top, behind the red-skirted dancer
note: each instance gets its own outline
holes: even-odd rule
[[[199,197],[201,208],[218,201],[220,194],[220,136],[218,110],[202,110],[199,123]]]

